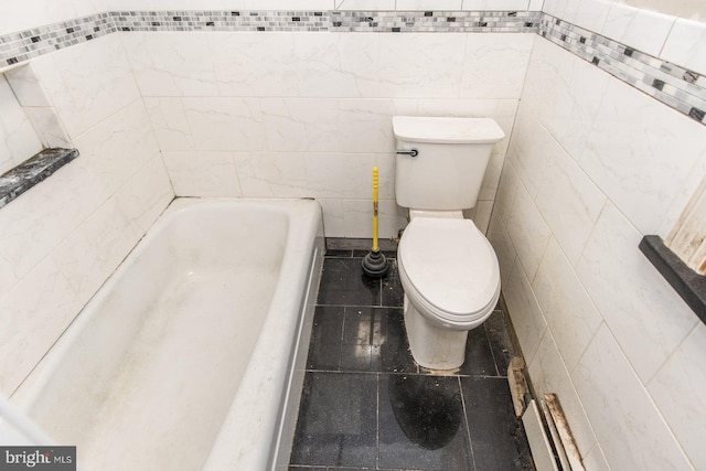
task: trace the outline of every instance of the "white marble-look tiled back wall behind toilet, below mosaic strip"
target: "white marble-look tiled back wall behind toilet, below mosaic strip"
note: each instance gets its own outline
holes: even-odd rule
[[[388,169],[381,197],[392,204],[381,236],[405,225],[394,207],[392,116],[490,116],[510,136],[535,41],[492,33],[266,34],[267,41],[263,33],[130,33],[121,41],[176,194],[322,199],[327,235],[346,237],[371,234],[365,202],[379,159]],[[495,147],[483,183],[483,225],[507,143]],[[349,208],[361,216],[334,214]]]

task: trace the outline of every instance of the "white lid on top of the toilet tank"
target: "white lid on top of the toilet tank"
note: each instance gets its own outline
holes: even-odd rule
[[[490,118],[393,116],[393,131],[408,142],[492,143],[505,137]]]

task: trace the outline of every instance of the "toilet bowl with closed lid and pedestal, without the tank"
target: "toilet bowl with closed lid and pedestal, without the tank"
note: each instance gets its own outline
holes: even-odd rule
[[[495,253],[470,220],[415,217],[399,242],[405,327],[415,361],[431,370],[463,364],[471,329],[500,298]]]

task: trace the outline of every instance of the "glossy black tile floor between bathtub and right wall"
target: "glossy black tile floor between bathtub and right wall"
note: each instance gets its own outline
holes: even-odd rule
[[[470,332],[458,372],[435,375],[408,351],[395,254],[382,280],[362,275],[365,254],[327,251],[290,471],[533,470],[503,313]]]

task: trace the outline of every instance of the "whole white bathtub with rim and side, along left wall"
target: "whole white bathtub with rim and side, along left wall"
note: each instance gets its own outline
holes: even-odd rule
[[[11,402],[94,471],[286,469],[314,201],[178,199]]]

